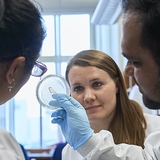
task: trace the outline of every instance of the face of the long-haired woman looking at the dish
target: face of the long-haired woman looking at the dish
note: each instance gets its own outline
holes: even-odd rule
[[[89,121],[111,122],[118,88],[109,74],[93,66],[73,66],[68,74],[71,96],[85,108]]]

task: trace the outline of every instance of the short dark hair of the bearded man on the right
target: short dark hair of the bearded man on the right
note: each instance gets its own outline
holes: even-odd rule
[[[160,66],[160,0],[122,0],[124,15],[132,13],[141,24],[141,46],[149,49]]]

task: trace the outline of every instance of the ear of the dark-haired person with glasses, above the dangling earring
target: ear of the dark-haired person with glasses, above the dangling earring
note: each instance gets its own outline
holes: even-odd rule
[[[24,61],[25,57],[17,57],[9,64],[6,72],[6,79],[8,84],[13,83],[13,79],[15,79],[17,71],[19,71],[21,67],[24,66]]]

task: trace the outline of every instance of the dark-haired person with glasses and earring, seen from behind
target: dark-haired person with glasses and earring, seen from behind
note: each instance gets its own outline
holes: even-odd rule
[[[0,105],[11,99],[30,76],[46,66],[36,61],[46,31],[39,10],[29,0],[0,0]],[[24,160],[20,145],[0,129],[0,159]]]

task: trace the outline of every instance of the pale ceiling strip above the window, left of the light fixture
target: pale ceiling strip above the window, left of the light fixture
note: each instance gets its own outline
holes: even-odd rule
[[[36,0],[43,13],[93,13],[99,0]]]

